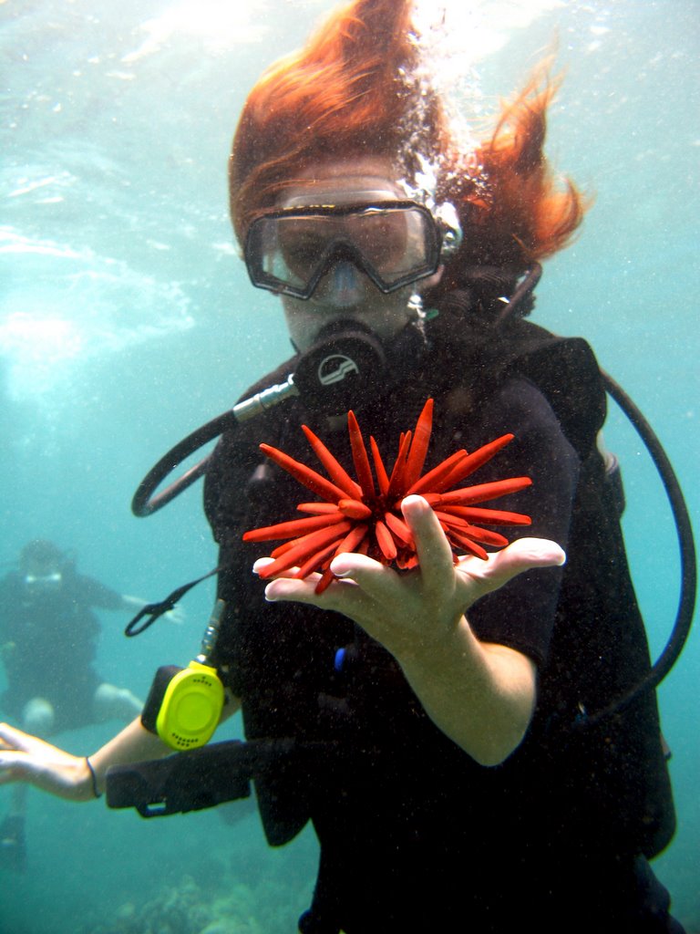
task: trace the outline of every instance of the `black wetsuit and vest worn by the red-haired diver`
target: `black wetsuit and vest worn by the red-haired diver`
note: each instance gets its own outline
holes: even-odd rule
[[[289,403],[225,436],[207,474],[227,601],[217,662],[243,700],[249,739],[300,741],[299,756],[260,777],[257,792],[270,842],[314,822],[319,877],[313,910],[301,919],[310,934],[677,929],[643,857],[668,842],[674,821],[653,694],[595,729],[571,729],[649,667],[595,448],[605,394],[583,342],[562,346],[524,323],[509,339],[520,350],[497,361],[494,348],[448,348],[438,334],[413,373],[358,413],[391,461],[399,432],[413,428],[433,396],[427,468],[513,432],[511,446],[470,480],[531,476],[532,488],[494,505],[533,517],[518,534],[567,549],[564,569],[522,574],[469,610],[481,639],[523,652],[539,671],[531,728],[497,768],[479,766],[447,739],[394,660],[350,621],[266,604],[251,573],[269,546],[243,545],[242,531],[293,517],[297,502],[311,498],[276,467],[259,468],[258,443],[317,467],[299,428],[306,422],[349,467],[346,432],[329,433]],[[578,394],[550,404],[536,376],[568,378]],[[577,389],[581,380],[590,385]]]

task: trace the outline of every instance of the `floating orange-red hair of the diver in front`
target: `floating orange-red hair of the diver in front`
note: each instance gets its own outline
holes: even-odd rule
[[[416,153],[438,167],[439,200],[465,228],[445,286],[465,265],[525,269],[567,245],[584,207],[559,186],[544,155],[554,87],[536,74],[502,109],[475,152],[459,153],[437,93],[419,69],[412,0],[353,0],[299,52],[273,64],[248,96],[233,139],[231,218],[239,241],[313,161],[385,157],[413,180]],[[454,271],[454,275],[451,275]]]

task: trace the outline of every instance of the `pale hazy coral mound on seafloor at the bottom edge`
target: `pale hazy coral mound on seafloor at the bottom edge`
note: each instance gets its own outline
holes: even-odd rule
[[[140,905],[128,901],[91,934],[268,934],[254,916],[245,884],[232,884],[225,897],[207,897],[189,876],[168,885]]]

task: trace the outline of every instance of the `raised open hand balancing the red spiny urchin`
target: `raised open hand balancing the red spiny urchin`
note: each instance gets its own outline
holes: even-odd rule
[[[535,567],[563,564],[566,556],[554,542],[522,538],[487,560],[460,558],[427,502],[409,496],[401,511],[413,532],[419,567],[401,573],[365,555],[344,554],[330,568],[340,580],[315,593],[318,574],[304,580],[278,577],[265,588],[270,601],[297,601],[349,616],[396,658],[440,643],[455,630],[472,603]],[[255,569],[270,559],[256,562]]]

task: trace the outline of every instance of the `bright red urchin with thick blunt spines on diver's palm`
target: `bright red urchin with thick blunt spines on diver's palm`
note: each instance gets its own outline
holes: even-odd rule
[[[264,529],[246,531],[245,542],[273,542],[288,539],[271,554],[273,561],[260,569],[263,579],[298,570],[289,576],[303,578],[318,571],[321,578],[315,592],[322,593],[333,579],[329,564],[336,555],[354,551],[369,555],[382,564],[396,563],[401,569],[418,563],[411,530],[401,515],[401,501],[413,494],[422,496],[440,520],[442,530],[452,546],[455,561],[458,555],[487,558],[483,545],[500,548],[508,539],[481,526],[529,525],[530,517],[521,513],[484,509],[476,502],[495,500],[506,493],[529,487],[527,476],[511,477],[493,483],[452,489],[486,461],[491,460],[511,440],[504,434],[469,454],[455,451],[437,467],[421,476],[432,431],[433,401],[428,399],[418,417],[415,431],[404,432],[399,439],[399,453],[391,474],[387,474],[379,449],[370,438],[372,474],[367,448],[353,412],[347,414],[350,446],[357,481],[345,472],[328,447],[306,425],[306,435],[315,455],[330,479],[317,474],[311,467],[293,460],[284,451],[270,445],[260,450],[283,470],[299,480],[324,502],[301,502],[297,509],[309,513],[309,518],[291,519]]]

